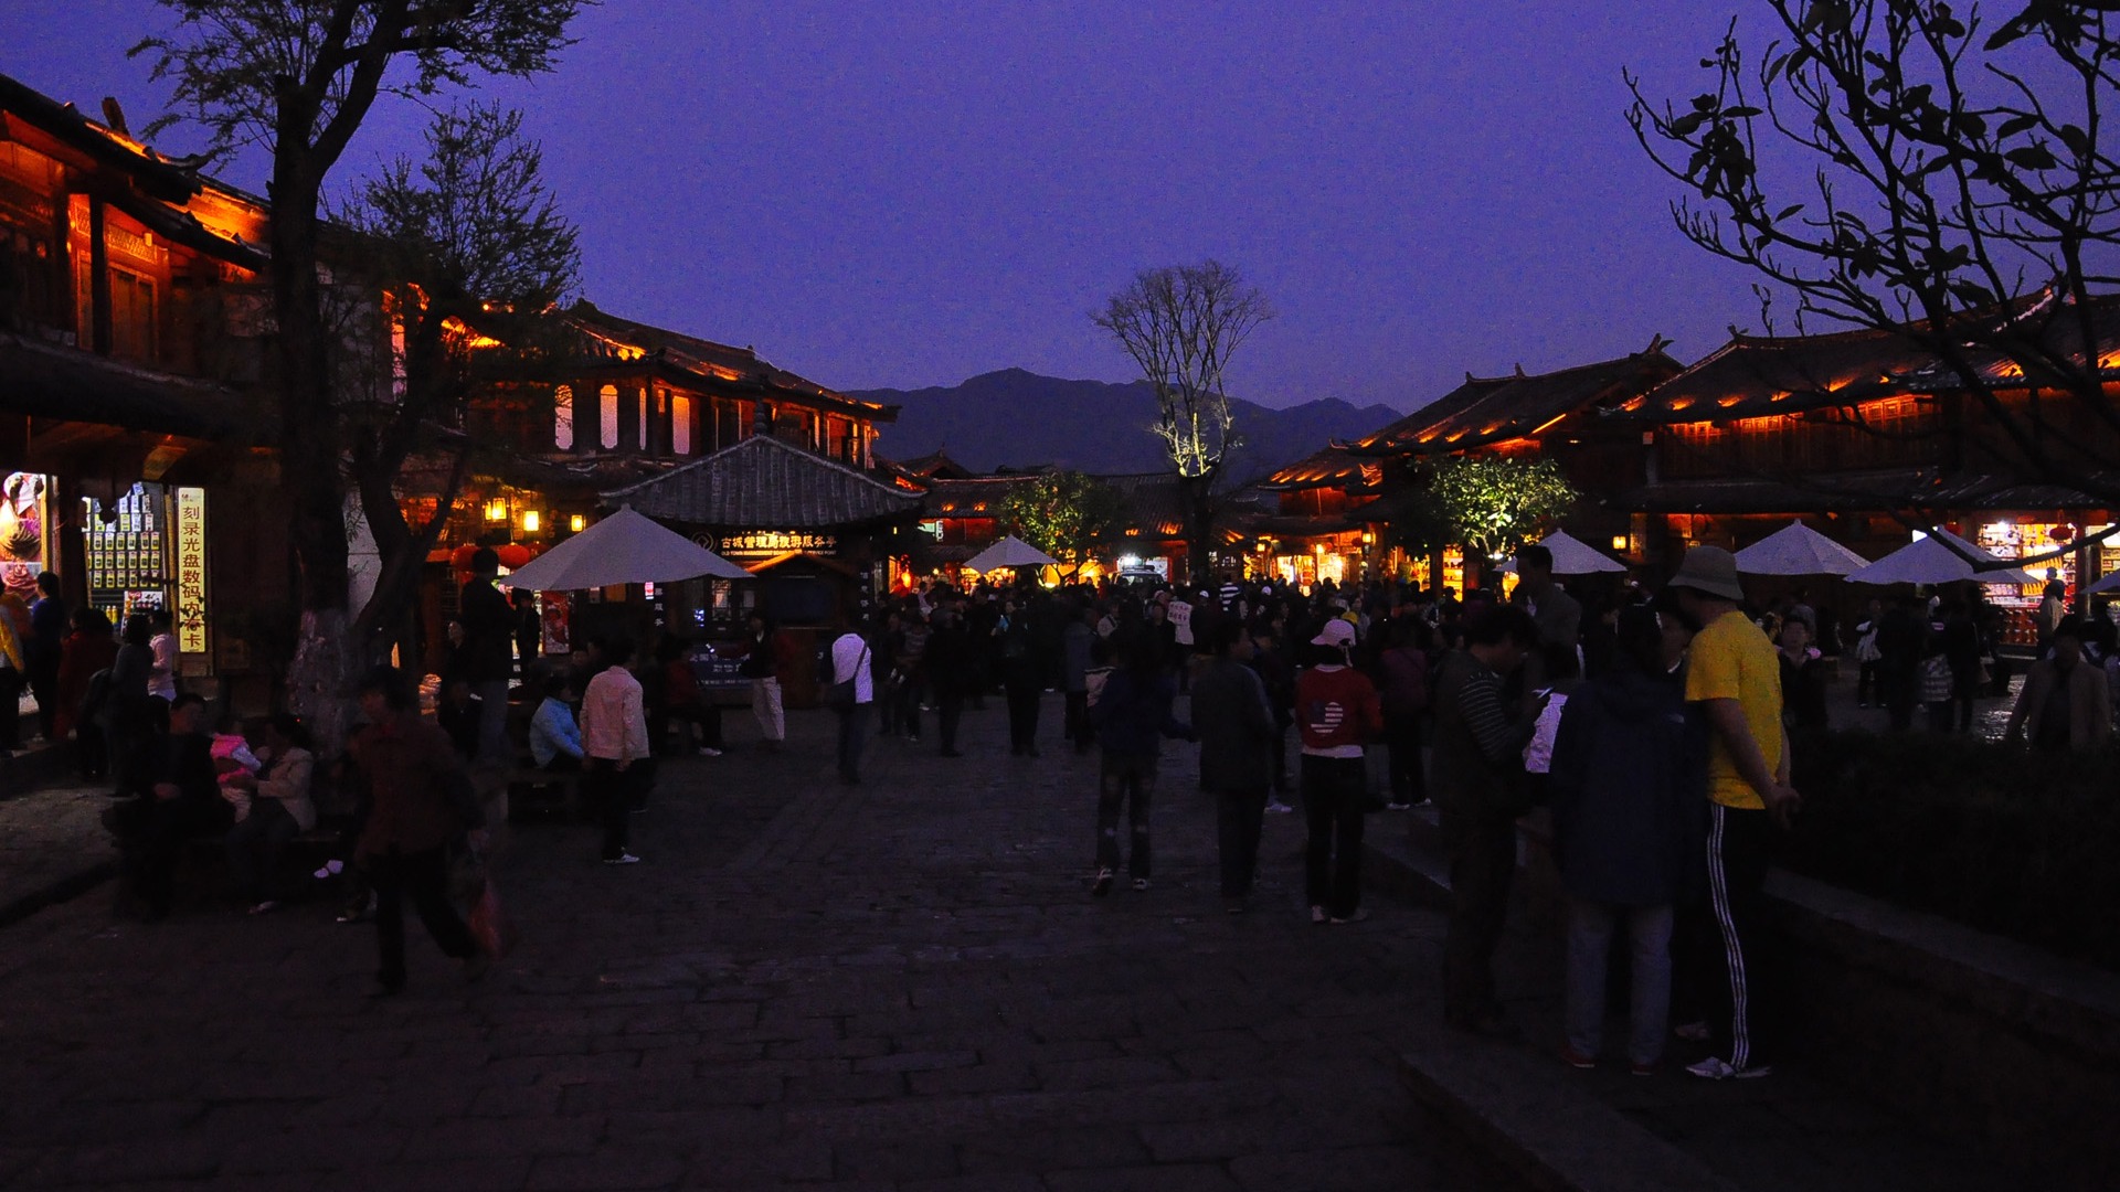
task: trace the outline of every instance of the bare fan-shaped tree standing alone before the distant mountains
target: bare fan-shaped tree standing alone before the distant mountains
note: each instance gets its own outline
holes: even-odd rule
[[[1151,431],[1185,488],[1185,554],[1198,583],[1208,575],[1215,481],[1238,445],[1223,373],[1253,329],[1272,316],[1266,295],[1221,261],[1143,269],[1090,316],[1155,390]]]

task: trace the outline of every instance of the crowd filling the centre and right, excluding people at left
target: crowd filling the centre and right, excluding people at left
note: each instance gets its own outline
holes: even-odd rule
[[[1688,551],[1660,592],[1609,585],[1579,600],[1541,547],[1522,549],[1516,573],[1507,600],[1384,583],[1308,594],[1236,581],[937,583],[888,600],[871,626],[842,626],[827,681],[859,677],[850,706],[873,700],[880,732],[905,742],[922,740],[924,711],[939,713],[943,757],[960,755],[962,706],[992,694],[1007,700],[1009,751],[1039,755],[1043,694],[1060,691],[1058,742],[1100,753],[1098,897],[1121,865],[1136,891],[1151,887],[1164,738],[1200,742],[1232,912],[1249,908],[1264,814],[1293,810],[1280,795],[1304,810],[1304,891],[1321,925],[1365,916],[1365,817],[1433,800],[1452,882],[1444,1014],[1480,1035],[1516,1031],[1492,954],[1518,819],[1550,806],[1569,895],[1562,1058],[1598,1058],[1605,965],[1622,935],[1632,1071],[1656,1071],[1677,1031],[1709,1050],[1688,1071],[1766,1075],[1779,969],[1762,884],[1802,806],[1791,772],[1830,725],[1830,655],[1861,668],[1859,700],[1885,706],[1891,728],[1914,730],[1912,713],[1927,706],[1925,728],[1967,732],[1974,700],[2006,683],[1999,615],[1976,585],[1872,602],[1847,619],[1802,590],[1755,607],[1715,547]],[[753,630],[772,641],[763,624]],[[2109,679],[2120,679],[2112,621],[2056,617],[2010,736],[2050,749],[2103,742]],[[840,715],[840,776],[854,783],[863,713]],[[1384,755],[1376,783],[1370,751]]]

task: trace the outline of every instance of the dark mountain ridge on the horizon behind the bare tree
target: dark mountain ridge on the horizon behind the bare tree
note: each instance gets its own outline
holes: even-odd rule
[[[1162,439],[1149,433],[1155,422],[1149,382],[1071,382],[1001,369],[948,388],[871,388],[854,397],[903,407],[897,422],[880,426],[878,452],[893,460],[948,450],[950,458],[973,471],[1003,464],[1058,464],[1088,473],[1170,467]],[[1367,435],[1399,418],[1389,405],[1357,409],[1336,397],[1289,409],[1266,409],[1249,401],[1230,405],[1244,439],[1230,460],[1230,475],[1236,479],[1253,479],[1331,439]]]

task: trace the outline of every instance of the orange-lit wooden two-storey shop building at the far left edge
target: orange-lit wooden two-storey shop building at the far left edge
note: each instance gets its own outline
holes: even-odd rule
[[[269,704],[293,626],[257,395],[265,206],[0,76],[0,585],[167,611],[191,689]]]

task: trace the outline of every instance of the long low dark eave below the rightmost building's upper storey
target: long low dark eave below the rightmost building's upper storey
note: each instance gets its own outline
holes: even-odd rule
[[[2120,471],[2090,477],[2120,484]],[[2022,484],[1995,473],[1938,469],[1872,469],[1802,479],[1711,477],[1671,479],[1622,494],[1630,513],[1844,513],[1866,509],[2090,509],[2105,501],[2056,484]]]

